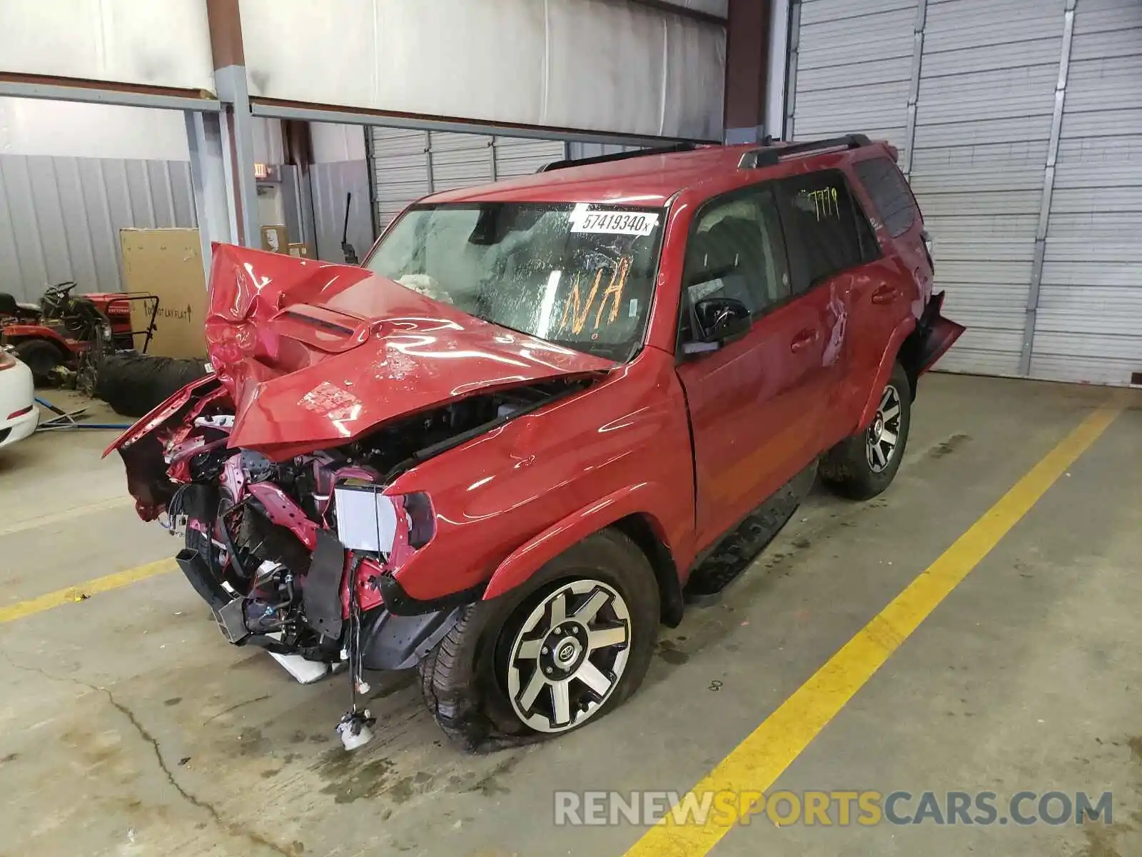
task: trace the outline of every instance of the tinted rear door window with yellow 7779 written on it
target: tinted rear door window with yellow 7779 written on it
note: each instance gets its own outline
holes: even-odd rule
[[[858,227],[858,218],[864,215],[853,202],[843,173],[821,170],[777,184],[797,291],[876,257],[868,223],[863,235]]]

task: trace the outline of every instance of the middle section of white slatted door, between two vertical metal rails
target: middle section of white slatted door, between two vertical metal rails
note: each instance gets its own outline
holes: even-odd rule
[[[935,288],[967,333],[940,368],[1016,375],[1043,202],[1062,0],[928,2],[911,184]]]

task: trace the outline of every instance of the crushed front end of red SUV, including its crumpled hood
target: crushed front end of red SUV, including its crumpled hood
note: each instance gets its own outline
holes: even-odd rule
[[[416,666],[482,595],[450,588],[449,569],[436,577],[450,595],[405,594],[396,571],[436,518],[428,492],[394,481],[610,363],[360,269],[274,256],[216,248],[215,373],[105,454],[122,457],[139,516],[183,536],[178,566],[231,643],[266,649],[301,682],[349,673],[338,731],[353,748],[369,738],[364,671]]]

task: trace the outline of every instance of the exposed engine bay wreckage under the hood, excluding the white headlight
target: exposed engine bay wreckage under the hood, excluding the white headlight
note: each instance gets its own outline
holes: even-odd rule
[[[427,495],[385,497],[397,518],[395,540],[371,552],[337,543],[338,567],[329,572],[336,579],[322,584],[319,596],[308,577],[322,539],[336,542],[337,486],[367,486],[380,495],[419,463],[589,384],[557,379],[472,395],[286,460],[230,447],[230,399],[206,384],[122,454],[132,491],[140,491],[140,513],[143,506],[152,516],[164,513],[167,526],[185,534],[180,564],[216,610],[226,638],[332,664],[344,656],[341,619],[349,618],[354,603],[364,601],[368,610],[380,601],[372,590],[362,596],[360,580],[391,575],[395,554],[419,550],[434,532]],[[160,450],[161,478],[154,462]],[[151,479],[140,484],[145,474]],[[353,567],[347,576],[345,566]]]

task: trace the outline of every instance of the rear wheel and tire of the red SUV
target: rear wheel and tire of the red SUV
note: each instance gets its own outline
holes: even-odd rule
[[[911,402],[908,373],[896,363],[871,424],[821,459],[821,481],[850,499],[870,499],[892,484],[908,443]]]

